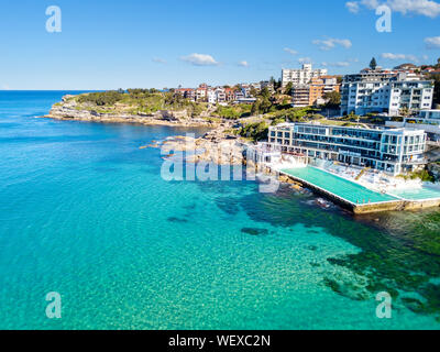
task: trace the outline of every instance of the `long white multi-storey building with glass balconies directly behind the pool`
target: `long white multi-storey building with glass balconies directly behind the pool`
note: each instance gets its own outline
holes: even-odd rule
[[[372,167],[391,175],[425,165],[426,143],[427,134],[414,129],[283,123],[268,132],[268,144],[285,153]]]

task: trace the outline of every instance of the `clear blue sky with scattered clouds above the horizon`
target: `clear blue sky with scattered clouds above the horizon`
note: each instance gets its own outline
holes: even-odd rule
[[[381,2],[391,33],[376,31]],[[50,6],[61,33],[46,31]],[[302,61],[353,73],[372,56],[433,63],[439,24],[430,0],[2,0],[0,89],[223,85],[279,78]]]

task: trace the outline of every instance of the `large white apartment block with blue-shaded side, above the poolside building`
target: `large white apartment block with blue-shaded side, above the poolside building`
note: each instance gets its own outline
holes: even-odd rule
[[[341,114],[385,112],[398,116],[400,110],[430,109],[433,81],[396,72],[361,72],[346,75],[341,88]]]

